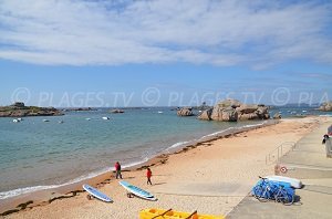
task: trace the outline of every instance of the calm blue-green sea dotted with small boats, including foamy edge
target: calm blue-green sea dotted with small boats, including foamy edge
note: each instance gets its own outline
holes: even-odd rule
[[[0,118],[0,199],[56,188],[170,153],[206,136],[261,125],[179,117],[170,107],[65,112],[63,116]],[[313,107],[278,107],[282,117],[322,115]],[[197,112],[196,112],[197,113]],[[110,119],[103,119],[110,117]],[[48,122],[45,122],[45,119]]]

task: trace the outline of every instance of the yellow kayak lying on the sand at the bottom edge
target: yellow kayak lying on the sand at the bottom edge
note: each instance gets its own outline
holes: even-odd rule
[[[198,215],[195,212],[174,211],[172,209],[144,209],[139,212],[139,219],[225,219],[224,216]]]

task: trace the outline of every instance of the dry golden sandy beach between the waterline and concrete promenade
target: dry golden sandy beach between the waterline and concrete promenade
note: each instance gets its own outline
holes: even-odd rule
[[[272,175],[273,164],[266,164],[266,156],[284,142],[298,142],[305,134],[331,122],[330,117],[281,119],[276,125],[252,129],[159,156],[148,163],[153,171],[153,186],[146,185],[145,169],[123,171],[124,180],[153,192],[158,200],[146,201],[127,198],[114,174],[93,180],[101,191],[114,199],[105,204],[87,200],[86,192],[70,192],[68,198],[52,201],[45,195],[29,197],[33,204],[4,218],[138,218],[145,208],[173,208],[226,216],[247,196],[258,176]],[[111,177],[112,175],[112,177]],[[80,188],[75,185],[73,190]],[[61,189],[53,191],[61,197]],[[25,201],[29,200],[25,197]],[[11,205],[19,205],[17,199]],[[8,204],[7,204],[8,205]]]

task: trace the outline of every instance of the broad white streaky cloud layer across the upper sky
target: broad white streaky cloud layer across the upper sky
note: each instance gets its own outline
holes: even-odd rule
[[[38,64],[332,63],[331,4],[2,0],[0,59]],[[330,35],[329,35],[330,34]]]

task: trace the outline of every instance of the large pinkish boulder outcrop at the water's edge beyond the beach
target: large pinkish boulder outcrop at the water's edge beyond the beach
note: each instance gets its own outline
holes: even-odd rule
[[[204,112],[199,118],[222,122],[268,119],[270,118],[268,109],[264,105],[247,105],[237,100],[226,100],[214,106],[211,116]]]

